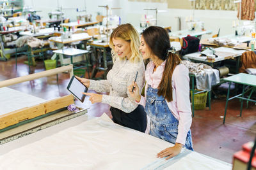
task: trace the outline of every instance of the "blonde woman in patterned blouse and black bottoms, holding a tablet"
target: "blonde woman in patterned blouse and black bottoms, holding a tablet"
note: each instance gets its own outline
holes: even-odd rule
[[[92,103],[107,103],[113,122],[145,132],[147,115],[143,106],[135,102],[127,87],[135,80],[140,89],[145,83],[145,66],[140,55],[140,38],[131,24],[119,25],[111,34],[109,46],[113,54],[113,67],[108,72],[107,80],[88,80],[77,77],[88,89],[105,94],[84,93],[90,96]]]

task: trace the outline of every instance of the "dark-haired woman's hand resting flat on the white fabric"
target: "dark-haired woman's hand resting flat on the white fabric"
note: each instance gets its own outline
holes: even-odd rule
[[[182,144],[175,143],[173,147],[166,148],[165,150],[162,150],[161,152],[157,153],[157,158],[163,158],[166,157],[165,160],[170,159],[172,157],[175,157],[178,155],[182,149]]]

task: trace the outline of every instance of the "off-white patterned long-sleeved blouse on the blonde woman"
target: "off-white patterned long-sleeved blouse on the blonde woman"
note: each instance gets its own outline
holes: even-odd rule
[[[132,63],[127,59],[119,58],[113,64],[108,72],[107,80],[90,80],[89,89],[97,92],[109,92],[109,95],[102,96],[102,103],[107,103],[113,108],[131,113],[138,106],[138,103],[130,96],[127,87],[135,80],[136,73],[138,77],[136,83],[143,89],[145,83],[145,66],[143,61]]]

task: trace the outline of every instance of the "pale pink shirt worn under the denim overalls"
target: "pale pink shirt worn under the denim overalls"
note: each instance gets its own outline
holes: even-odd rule
[[[161,82],[164,66],[166,61],[164,61],[160,66],[154,71],[154,62],[149,62],[147,69],[145,71],[145,79],[147,81],[145,89],[150,87],[157,89],[159,83]],[[172,92],[173,101],[166,104],[173,116],[179,120],[178,125],[178,136],[176,143],[181,143],[185,145],[188,131],[190,129],[192,118],[191,118],[191,106],[189,100],[189,72],[188,68],[183,64],[179,64],[175,67],[172,74]],[[147,91],[145,90],[145,96],[147,96]],[[140,103],[142,106],[146,105],[146,97],[141,96]]]

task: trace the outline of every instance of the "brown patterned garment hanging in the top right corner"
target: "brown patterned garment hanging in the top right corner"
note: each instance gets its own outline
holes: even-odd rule
[[[237,18],[240,18],[240,4],[238,4]],[[241,20],[254,20],[255,18],[254,0],[242,0],[241,2]]]

